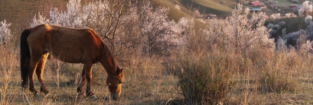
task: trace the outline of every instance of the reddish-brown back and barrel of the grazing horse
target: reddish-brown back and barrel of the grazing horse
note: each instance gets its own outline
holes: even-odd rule
[[[38,54],[48,50],[54,57],[69,63],[83,63],[100,56],[101,40],[91,29],[42,24],[29,30],[29,46]]]

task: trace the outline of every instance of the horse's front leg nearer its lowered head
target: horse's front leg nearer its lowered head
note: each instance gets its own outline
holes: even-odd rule
[[[90,98],[97,98],[94,93],[91,91],[91,68],[92,68],[92,63],[90,64],[84,64],[84,69],[86,72],[86,80],[87,80],[87,87],[86,87],[86,95],[89,96]]]

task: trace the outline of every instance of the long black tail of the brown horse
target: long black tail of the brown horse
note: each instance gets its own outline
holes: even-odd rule
[[[30,31],[28,29],[24,30],[21,34],[21,78],[22,78],[22,87],[26,88],[28,83],[28,69],[30,62],[30,51],[27,43],[27,37]]]

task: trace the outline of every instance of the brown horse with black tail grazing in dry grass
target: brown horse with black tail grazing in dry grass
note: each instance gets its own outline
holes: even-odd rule
[[[105,42],[91,29],[73,29],[42,24],[28,28],[21,35],[21,78],[22,88],[38,94],[34,88],[33,75],[36,71],[40,91],[49,93],[42,78],[48,55],[68,63],[84,64],[77,92],[82,95],[87,79],[86,95],[96,98],[91,91],[91,68],[100,62],[107,73],[106,85],[111,97],[119,98],[124,79],[123,69],[116,65],[115,58]]]

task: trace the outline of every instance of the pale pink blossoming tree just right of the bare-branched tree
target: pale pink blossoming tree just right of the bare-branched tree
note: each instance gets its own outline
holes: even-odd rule
[[[181,45],[181,30],[175,21],[167,17],[169,8],[152,7],[149,1],[144,1],[141,7],[142,50],[151,53],[165,53],[171,47]]]

